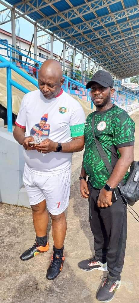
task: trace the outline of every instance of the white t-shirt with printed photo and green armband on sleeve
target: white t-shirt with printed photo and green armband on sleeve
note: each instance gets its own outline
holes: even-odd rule
[[[25,128],[25,136],[33,136],[41,141],[47,138],[54,142],[70,142],[72,137],[84,133],[85,114],[80,103],[61,90],[50,100],[39,90],[24,95],[15,122]],[[75,126],[74,126],[75,125]],[[72,132],[72,137],[71,137]],[[27,167],[37,175],[58,175],[71,166],[73,153],[40,153],[23,148]]]

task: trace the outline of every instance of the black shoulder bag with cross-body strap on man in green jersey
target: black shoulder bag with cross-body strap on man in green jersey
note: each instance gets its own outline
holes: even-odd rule
[[[111,175],[113,168],[112,168],[111,164],[109,163],[109,160],[107,158],[105,151],[103,150],[101,143],[96,139],[95,132],[94,132],[94,124],[95,124],[95,115],[93,115],[93,118],[92,118],[93,137],[94,137],[94,140],[96,143],[96,148],[100,154],[100,157],[103,159],[103,162],[106,166],[107,171],[109,172],[109,175]],[[121,183],[123,183],[123,180],[121,181]],[[134,205],[135,202],[137,202],[139,200],[139,161],[133,161],[133,163],[131,164],[131,167],[130,167],[128,180],[126,181],[125,185],[121,185],[121,183],[118,183],[118,185],[117,185],[119,194],[123,197],[124,201],[128,204],[128,206]],[[137,213],[136,213],[136,215],[138,216]],[[138,216],[138,218],[139,218],[139,216]],[[137,220],[137,221],[139,222],[139,220]]]

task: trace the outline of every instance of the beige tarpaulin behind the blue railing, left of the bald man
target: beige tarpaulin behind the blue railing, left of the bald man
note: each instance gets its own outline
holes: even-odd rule
[[[27,73],[24,69],[22,69]],[[36,86],[31,84],[29,81],[24,79],[22,76],[18,75],[13,70],[11,71],[11,78],[17,83],[21,84],[23,87],[27,88],[29,91],[36,90]],[[7,86],[6,86],[6,68],[0,68],[0,104],[7,108]],[[21,100],[24,96],[24,93],[19,89],[12,86],[12,112],[17,115],[19,112]]]

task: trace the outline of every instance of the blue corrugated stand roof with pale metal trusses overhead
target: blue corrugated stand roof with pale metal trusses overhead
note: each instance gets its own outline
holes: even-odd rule
[[[138,0],[8,2],[118,77],[139,74]]]

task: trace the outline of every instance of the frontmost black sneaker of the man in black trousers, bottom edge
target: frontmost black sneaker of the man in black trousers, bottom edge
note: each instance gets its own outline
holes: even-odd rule
[[[104,280],[105,279],[105,280]],[[96,299],[100,302],[109,302],[113,299],[115,291],[120,287],[121,281],[113,281],[112,277],[103,278],[103,285],[100,287]]]

